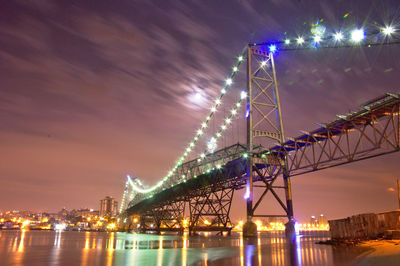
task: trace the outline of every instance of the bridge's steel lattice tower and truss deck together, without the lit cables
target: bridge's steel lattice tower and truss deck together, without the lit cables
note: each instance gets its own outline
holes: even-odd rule
[[[240,189],[246,189],[248,221],[292,221],[290,177],[400,150],[400,94],[386,94],[316,130],[285,138],[274,54],[264,45],[247,47],[247,78],[246,145],[234,144],[180,164],[151,194],[130,193],[127,185],[122,218],[129,228],[183,232],[189,215],[190,233],[230,232],[232,198]],[[281,178],[283,185],[276,185]],[[262,189],[258,198],[255,188]],[[283,213],[260,208],[267,195]]]

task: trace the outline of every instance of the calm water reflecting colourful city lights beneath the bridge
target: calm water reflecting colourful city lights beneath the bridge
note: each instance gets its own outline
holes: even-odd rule
[[[288,243],[278,233],[246,240],[202,234],[0,231],[0,265],[352,265],[362,251],[318,245],[327,236]],[[215,233],[214,233],[215,234]],[[325,233],[326,234],[326,233]]]

